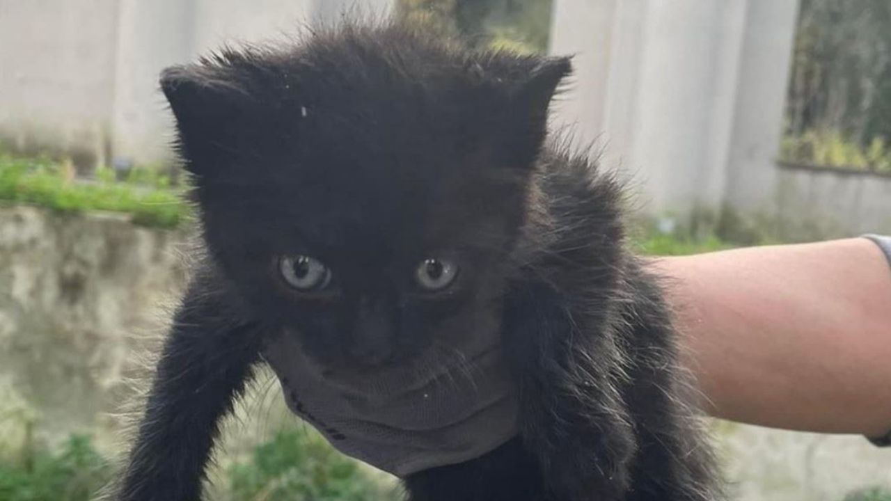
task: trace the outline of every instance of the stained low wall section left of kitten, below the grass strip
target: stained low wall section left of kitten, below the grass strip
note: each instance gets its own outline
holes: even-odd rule
[[[134,336],[183,285],[181,240],[118,216],[0,208],[0,386],[37,413],[37,439],[116,429],[105,413],[119,410]],[[19,419],[2,424],[0,444],[20,439]]]

